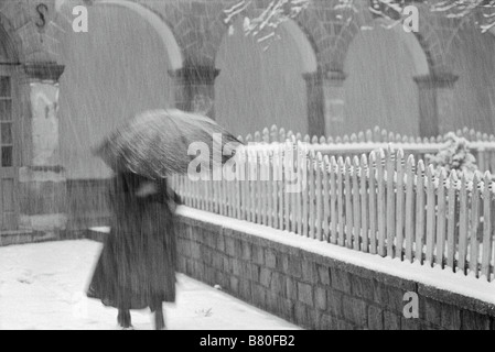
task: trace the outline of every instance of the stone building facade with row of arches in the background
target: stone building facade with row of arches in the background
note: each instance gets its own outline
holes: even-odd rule
[[[202,111],[237,134],[273,123],[310,135],[494,132],[495,35],[475,19],[418,1],[408,33],[385,29],[366,0],[345,23],[335,1],[313,0],[265,51],[241,19],[225,24],[236,2],[0,0],[1,230],[87,226],[80,215],[97,217],[104,198],[87,189],[109,176],[92,146],[148,108]],[[76,6],[87,32],[74,30]]]

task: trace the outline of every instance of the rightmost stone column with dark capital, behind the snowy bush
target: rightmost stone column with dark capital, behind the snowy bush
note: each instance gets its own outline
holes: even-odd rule
[[[419,133],[421,136],[437,136],[452,127],[454,112],[453,87],[459,76],[435,74],[415,77],[419,91]]]

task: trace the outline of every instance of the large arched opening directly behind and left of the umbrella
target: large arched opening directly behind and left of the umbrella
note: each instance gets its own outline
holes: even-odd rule
[[[106,178],[92,155],[101,139],[146,109],[174,106],[169,70],[182,67],[170,28],[130,1],[100,1],[88,9],[88,33],[62,38],[61,154],[71,179]]]

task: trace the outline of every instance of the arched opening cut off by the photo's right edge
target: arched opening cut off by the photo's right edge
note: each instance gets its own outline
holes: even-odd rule
[[[459,76],[453,88],[453,116],[446,130],[464,127],[495,132],[495,35],[463,29],[452,43],[448,64]]]

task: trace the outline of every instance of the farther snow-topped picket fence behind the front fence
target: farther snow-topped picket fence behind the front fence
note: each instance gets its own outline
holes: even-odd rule
[[[495,174],[495,135],[476,132],[464,128],[455,132],[458,136],[465,138],[469,141],[471,153],[476,158],[480,170],[489,170]],[[344,136],[313,136],[301,133],[294,134],[292,131],[286,132],[283,128],[278,129],[272,125],[269,130],[248,134],[246,138],[239,138],[246,143],[281,143],[287,140],[302,141],[310,145],[315,152],[329,155],[343,155],[353,157],[363,153],[369,154],[372,151],[387,148],[391,144],[395,148],[401,148],[405,155],[413,155],[416,160],[424,160],[427,154],[437,154],[445,143],[445,135],[432,138],[407,136],[399,133],[388,132],[385,129],[376,127],[374,130],[362,131]]]

